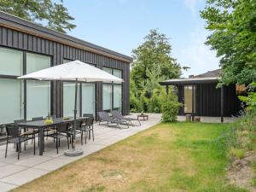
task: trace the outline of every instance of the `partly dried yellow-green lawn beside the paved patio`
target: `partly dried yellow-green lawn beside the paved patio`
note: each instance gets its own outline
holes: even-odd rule
[[[228,160],[212,142],[227,126],[156,125],[15,191],[247,191],[228,184]]]

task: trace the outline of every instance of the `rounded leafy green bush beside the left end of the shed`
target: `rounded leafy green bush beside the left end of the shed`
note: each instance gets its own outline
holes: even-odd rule
[[[162,99],[162,122],[177,121],[177,113],[182,104],[177,102],[177,96],[170,91],[169,94],[164,94]]]

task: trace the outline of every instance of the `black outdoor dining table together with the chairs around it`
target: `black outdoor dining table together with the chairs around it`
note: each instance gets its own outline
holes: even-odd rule
[[[16,147],[16,152],[18,152],[18,160],[20,159],[21,143],[24,143],[24,149],[26,150],[26,145],[29,140],[32,140],[34,154],[36,152],[36,137],[38,135],[38,146],[39,155],[44,153],[44,140],[45,137],[51,137],[56,143],[56,150],[59,153],[58,148],[61,144],[61,139],[67,138],[67,148],[69,148],[69,143],[72,143],[73,137],[73,117],[69,118],[56,118],[51,116],[52,121],[46,122],[43,117],[33,118],[30,121],[25,119],[15,120],[14,123],[6,125],[7,131],[7,141],[6,141],[6,151],[5,158],[7,157],[8,145],[9,143],[14,143]],[[83,145],[87,141],[87,137],[92,134],[94,141],[94,130],[93,130],[94,118],[84,114],[83,117],[78,117],[76,119],[76,135],[80,134],[81,144]]]

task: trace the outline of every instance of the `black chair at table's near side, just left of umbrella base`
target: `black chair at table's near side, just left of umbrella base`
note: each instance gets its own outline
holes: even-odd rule
[[[69,148],[69,137],[70,134],[68,132],[69,123],[61,123],[56,125],[56,129],[51,129],[52,133],[47,135],[47,137],[52,137],[56,140],[56,149],[57,154],[59,153],[59,147],[61,146],[61,138],[67,138],[67,148]]]

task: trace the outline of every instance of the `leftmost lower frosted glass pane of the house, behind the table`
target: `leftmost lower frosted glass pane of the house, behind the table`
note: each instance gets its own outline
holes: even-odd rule
[[[0,124],[23,119],[23,86],[18,79],[0,79]]]

